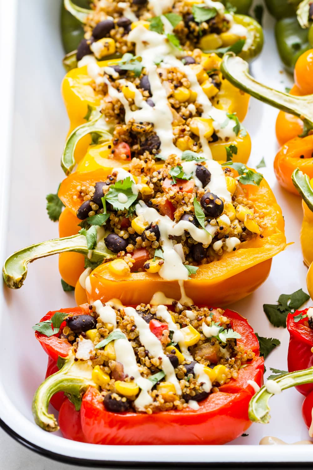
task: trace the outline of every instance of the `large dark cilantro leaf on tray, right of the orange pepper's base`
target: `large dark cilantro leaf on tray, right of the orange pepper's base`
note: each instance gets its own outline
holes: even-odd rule
[[[303,305],[310,296],[302,289],[296,290],[292,294],[281,294],[277,300],[278,304],[264,304],[263,310],[268,320],[273,326],[286,328],[286,318],[288,313],[294,313]],[[301,320],[300,313],[295,317],[295,321]],[[305,317],[304,317],[305,318]]]

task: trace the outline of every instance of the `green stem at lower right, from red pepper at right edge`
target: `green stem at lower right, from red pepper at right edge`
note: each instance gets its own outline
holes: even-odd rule
[[[281,390],[313,382],[313,367],[284,374],[273,380]],[[258,423],[268,423],[270,419],[268,400],[274,395],[267,391],[266,384],[253,395],[249,403],[249,419]]]

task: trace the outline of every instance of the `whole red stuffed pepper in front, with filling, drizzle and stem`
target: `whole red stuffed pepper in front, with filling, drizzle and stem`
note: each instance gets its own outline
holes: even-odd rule
[[[253,385],[261,384],[264,369],[252,328],[230,310],[170,308],[112,308],[96,301],[89,313],[97,328],[86,329],[80,321],[80,331],[63,335],[61,324],[59,342],[69,343],[61,337],[73,333],[75,340],[63,367],[35,394],[38,425],[58,429],[47,407],[53,394],[62,391],[74,403],[64,399],[59,414],[68,439],[115,445],[223,444],[244,432],[250,426]],[[73,320],[65,320],[71,328]],[[155,321],[167,323],[168,329],[161,335],[157,329],[155,336]]]

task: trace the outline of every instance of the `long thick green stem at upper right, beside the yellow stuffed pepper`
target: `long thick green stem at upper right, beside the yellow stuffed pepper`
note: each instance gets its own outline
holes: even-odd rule
[[[232,85],[279,110],[298,116],[305,125],[305,134],[313,129],[313,95],[293,96],[263,85],[248,73],[248,64],[232,53],[224,55],[221,71]]]

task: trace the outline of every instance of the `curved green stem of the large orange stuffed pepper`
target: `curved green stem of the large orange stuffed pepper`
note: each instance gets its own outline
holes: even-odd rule
[[[26,278],[29,263],[35,261],[35,259],[45,258],[64,251],[76,251],[88,255],[90,250],[87,248],[86,237],[84,235],[72,235],[65,238],[56,238],[15,251],[4,263],[2,269],[3,279],[10,289],[19,289]],[[97,247],[92,250],[90,260],[98,262],[104,258],[115,258],[115,255],[106,249],[104,243],[98,242]]]

